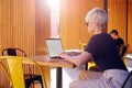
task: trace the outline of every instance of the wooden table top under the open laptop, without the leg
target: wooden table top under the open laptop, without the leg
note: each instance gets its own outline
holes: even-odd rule
[[[50,58],[47,55],[38,55],[33,57],[40,65],[44,66],[55,66],[55,67],[63,67],[63,68],[74,68],[75,65],[65,61],[65,59],[57,59],[57,58]]]

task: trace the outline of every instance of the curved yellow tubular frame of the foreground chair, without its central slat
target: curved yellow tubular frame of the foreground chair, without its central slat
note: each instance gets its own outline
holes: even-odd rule
[[[43,68],[42,68],[42,67],[38,65],[38,63],[36,63],[35,61],[30,59],[30,58],[25,58],[25,57],[18,57],[18,56],[1,56],[1,57],[0,57],[0,61],[1,61],[1,59],[6,61],[6,63],[10,63],[10,61],[11,61],[11,62],[15,62],[15,61],[18,62],[18,61],[19,61],[19,62],[21,62],[21,64],[22,64],[22,63],[29,63],[29,62],[30,62],[29,64],[35,65],[35,66],[40,69],[44,88],[47,88],[46,80],[45,80],[44,73],[43,73]],[[10,65],[12,65],[12,64],[10,64]],[[13,82],[13,80],[14,80],[15,78],[13,78],[13,76],[11,75],[12,72],[7,70],[6,67],[4,67],[4,65],[3,65],[1,62],[0,62],[0,67],[3,69],[4,74],[8,76],[8,78],[9,78],[9,80],[10,80],[12,87],[13,87],[13,88],[16,88],[16,87],[14,87],[14,84],[16,84],[16,82]],[[10,67],[9,67],[9,64],[8,64],[8,68],[10,68]],[[22,73],[22,74],[23,74],[23,73]],[[24,82],[24,76],[22,75],[21,77],[23,77],[23,82]],[[25,87],[21,87],[21,88],[25,88]]]

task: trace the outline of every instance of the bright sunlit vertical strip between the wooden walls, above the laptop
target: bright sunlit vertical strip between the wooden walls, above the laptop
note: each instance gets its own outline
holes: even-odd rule
[[[51,9],[51,37],[59,37],[59,0],[46,0]]]

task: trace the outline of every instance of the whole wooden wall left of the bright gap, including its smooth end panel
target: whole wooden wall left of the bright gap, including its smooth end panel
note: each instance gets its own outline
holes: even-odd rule
[[[22,48],[28,57],[46,54],[46,36],[50,36],[50,9],[45,0],[0,0],[0,55],[7,47]],[[44,69],[50,88],[50,67]],[[1,68],[0,87],[9,87]]]

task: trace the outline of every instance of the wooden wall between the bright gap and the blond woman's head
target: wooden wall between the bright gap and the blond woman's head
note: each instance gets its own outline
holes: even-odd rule
[[[81,48],[81,43],[87,43],[88,34],[85,16],[95,8],[103,8],[103,0],[61,0],[61,38],[65,50]]]

